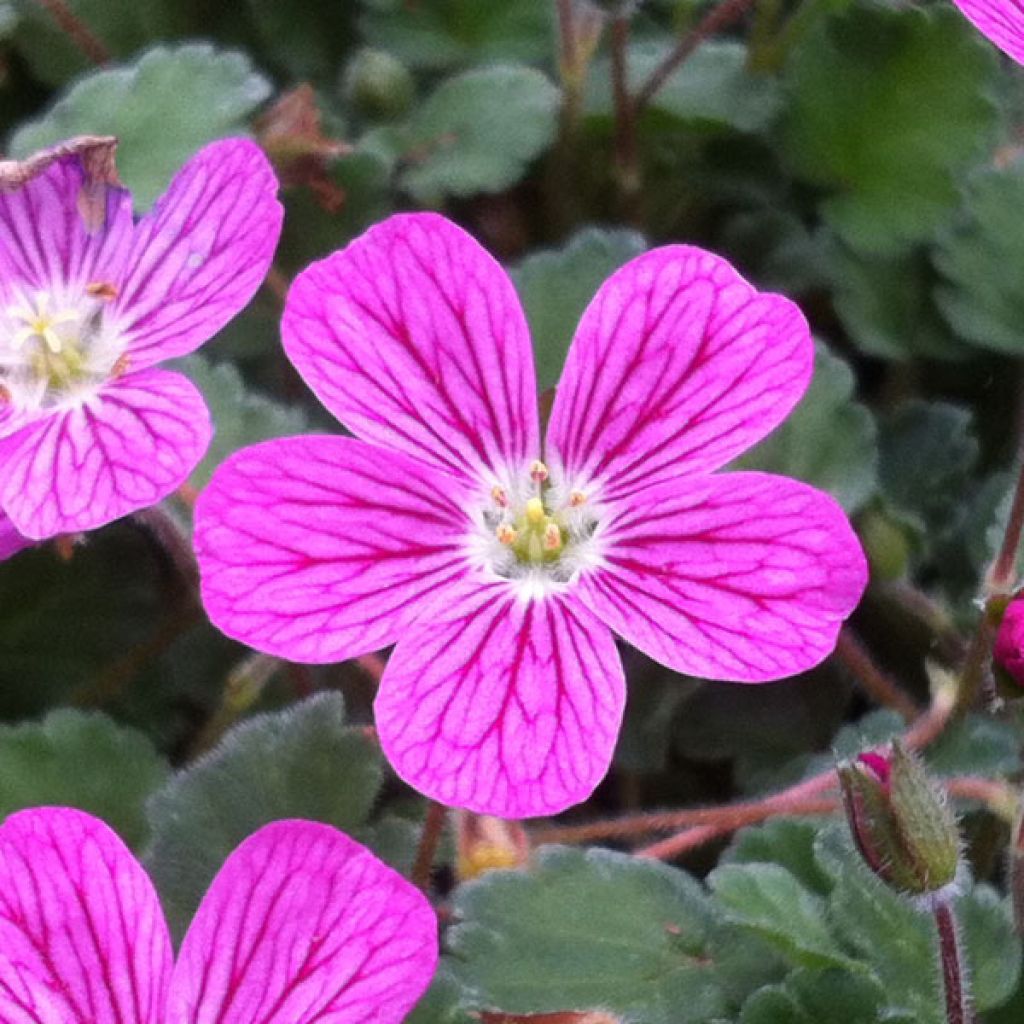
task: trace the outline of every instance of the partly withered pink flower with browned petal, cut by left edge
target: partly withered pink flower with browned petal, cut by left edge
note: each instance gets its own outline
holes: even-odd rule
[[[203,457],[202,396],[155,368],[252,298],[281,232],[276,187],[254,143],[227,139],[137,223],[129,193],[78,155],[0,193],[0,510],[26,537],[152,505]]]

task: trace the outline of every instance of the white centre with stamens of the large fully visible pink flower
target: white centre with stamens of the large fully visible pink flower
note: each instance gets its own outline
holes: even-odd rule
[[[535,462],[481,496],[472,515],[474,558],[525,597],[564,589],[600,564],[607,515],[598,498]]]

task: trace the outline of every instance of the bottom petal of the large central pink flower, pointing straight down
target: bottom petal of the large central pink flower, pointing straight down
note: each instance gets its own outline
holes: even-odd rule
[[[445,595],[402,637],[374,710],[384,753],[411,785],[521,818],[590,796],[625,699],[614,641],[586,608],[488,584]]]

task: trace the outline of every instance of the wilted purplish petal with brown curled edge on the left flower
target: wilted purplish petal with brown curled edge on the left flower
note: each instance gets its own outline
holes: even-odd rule
[[[0,191],[0,298],[19,292],[81,290],[118,279],[132,232],[131,196],[113,185],[88,185],[81,156],[61,157],[26,184]],[[98,190],[102,224],[83,215],[83,189]],[[17,295],[18,299],[24,295]]]

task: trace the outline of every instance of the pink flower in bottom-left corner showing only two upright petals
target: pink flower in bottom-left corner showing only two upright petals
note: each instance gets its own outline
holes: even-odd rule
[[[8,1024],[398,1024],[436,963],[426,899],[327,825],[247,839],[177,963],[153,883],[102,821],[46,807],[0,826]]]

